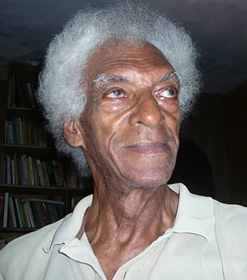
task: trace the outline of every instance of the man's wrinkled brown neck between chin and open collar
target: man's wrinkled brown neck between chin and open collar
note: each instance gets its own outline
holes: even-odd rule
[[[178,199],[172,192],[167,185],[129,190],[126,195],[96,189],[92,206],[85,214],[88,240],[95,243],[99,238],[117,238],[126,243],[143,235],[157,239],[176,216]]]

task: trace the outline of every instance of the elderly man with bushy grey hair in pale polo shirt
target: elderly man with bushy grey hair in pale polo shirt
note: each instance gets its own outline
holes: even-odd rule
[[[54,38],[38,98],[95,192],[6,246],[0,279],[246,279],[246,209],[167,185],[196,59],[181,26],[132,4],[80,11]]]

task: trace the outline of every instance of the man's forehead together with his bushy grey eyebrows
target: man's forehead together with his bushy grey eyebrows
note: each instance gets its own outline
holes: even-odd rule
[[[137,45],[107,45],[97,49],[88,60],[86,74],[88,82],[92,85],[98,82],[128,82],[126,76],[121,75],[121,69],[134,71],[152,71],[158,67],[166,67],[167,73],[160,76],[164,81],[172,78],[179,81],[176,71],[157,47],[150,43]],[[119,70],[120,69],[120,70]],[[119,71],[118,71],[119,70]]]

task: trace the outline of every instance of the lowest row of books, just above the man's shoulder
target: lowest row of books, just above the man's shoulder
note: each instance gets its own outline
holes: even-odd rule
[[[0,194],[0,228],[42,228],[64,217],[64,202]]]

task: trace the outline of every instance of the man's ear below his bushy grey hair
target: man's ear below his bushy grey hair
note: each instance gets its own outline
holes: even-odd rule
[[[64,123],[64,138],[73,147],[83,146],[85,148],[85,142],[83,139],[83,127],[80,124],[79,119],[73,122]]]

